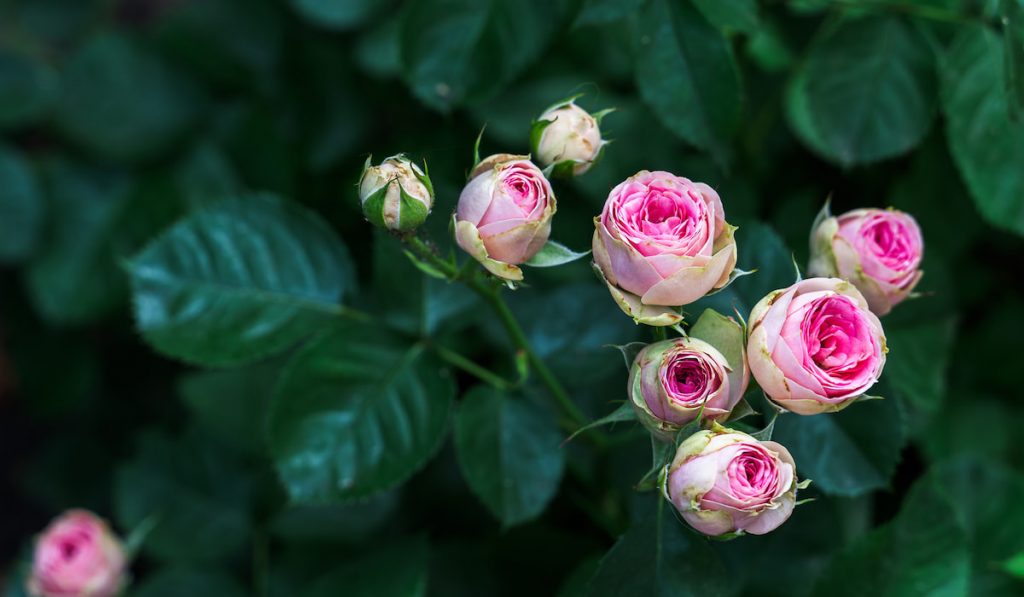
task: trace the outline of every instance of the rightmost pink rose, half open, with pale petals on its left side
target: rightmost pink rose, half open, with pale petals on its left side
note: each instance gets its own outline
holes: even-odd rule
[[[829,217],[827,208],[811,232],[812,275],[849,280],[881,316],[921,281],[925,242],[916,220],[893,209],[856,209]]]

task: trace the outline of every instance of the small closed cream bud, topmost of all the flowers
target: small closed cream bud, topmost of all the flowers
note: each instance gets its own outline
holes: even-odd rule
[[[597,161],[606,141],[601,138],[599,113],[591,116],[571,99],[549,108],[530,128],[530,145],[541,166],[580,176]]]

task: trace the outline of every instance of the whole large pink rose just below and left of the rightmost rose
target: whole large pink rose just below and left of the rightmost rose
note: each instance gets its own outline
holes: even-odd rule
[[[882,375],[886,337],[849,282],[811,278],[755,305],[751,372],[775,403],[801,415],[839,411]]]

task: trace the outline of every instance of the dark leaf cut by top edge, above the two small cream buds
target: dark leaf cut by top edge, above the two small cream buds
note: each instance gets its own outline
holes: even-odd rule
[[[486,99],[540,56],[562,9],[544,0],[406,3],[399,32],[406,81],[435,110]]]

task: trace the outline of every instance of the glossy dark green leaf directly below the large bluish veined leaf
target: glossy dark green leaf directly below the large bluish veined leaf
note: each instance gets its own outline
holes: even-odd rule
[[[362,498],[440,446],[455,390],[422,346],[346,325],[298,352],[278,385],[269,445],[294,502]]]

